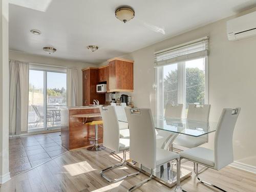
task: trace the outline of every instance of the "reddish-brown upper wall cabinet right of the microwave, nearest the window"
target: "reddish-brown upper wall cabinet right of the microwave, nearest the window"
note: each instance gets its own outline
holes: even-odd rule
[[[133,92],[132,60],[113,58],[109,61],[109,92]]]

